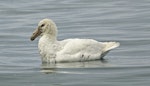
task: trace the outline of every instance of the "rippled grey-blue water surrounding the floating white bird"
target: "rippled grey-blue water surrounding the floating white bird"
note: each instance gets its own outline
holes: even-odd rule
[[[105,61],[42,64],[37,23],[53,19],[58,39],[119,41]],[[1,0],[0,86],[149,86],[150,0]]]

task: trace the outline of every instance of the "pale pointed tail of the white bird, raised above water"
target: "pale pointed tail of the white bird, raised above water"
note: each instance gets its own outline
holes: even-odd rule
[[[104,42],[105,48],[104,52],[110,51],[111,49],[114,49],[116,47],[120,46],[119,42]]]

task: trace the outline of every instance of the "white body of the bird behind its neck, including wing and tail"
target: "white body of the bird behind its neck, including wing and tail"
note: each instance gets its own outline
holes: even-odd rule
[[[64,40],[56,60],[59,62],[90,61],[102,59],[108,51],[119,46],[117,42],[98,42],[92,39]]]

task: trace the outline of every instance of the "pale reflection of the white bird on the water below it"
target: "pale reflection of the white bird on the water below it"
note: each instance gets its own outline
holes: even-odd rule
[[[45,74],[59,73],[61,69],[74,68],[101,68],[110,67],[107,60],[89,61],[89,62],[72,62],[72,63],[42,63],[41,72]]]

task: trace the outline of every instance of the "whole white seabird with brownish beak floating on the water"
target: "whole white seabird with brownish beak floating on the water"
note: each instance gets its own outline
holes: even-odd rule
[[[38,49],[42,62],[75,62],[103,59],[119,42],[98,42],[93,39],[57,40],[57,27],[51,19],[43,19],[33,32],[31,41],[40,36]]]

